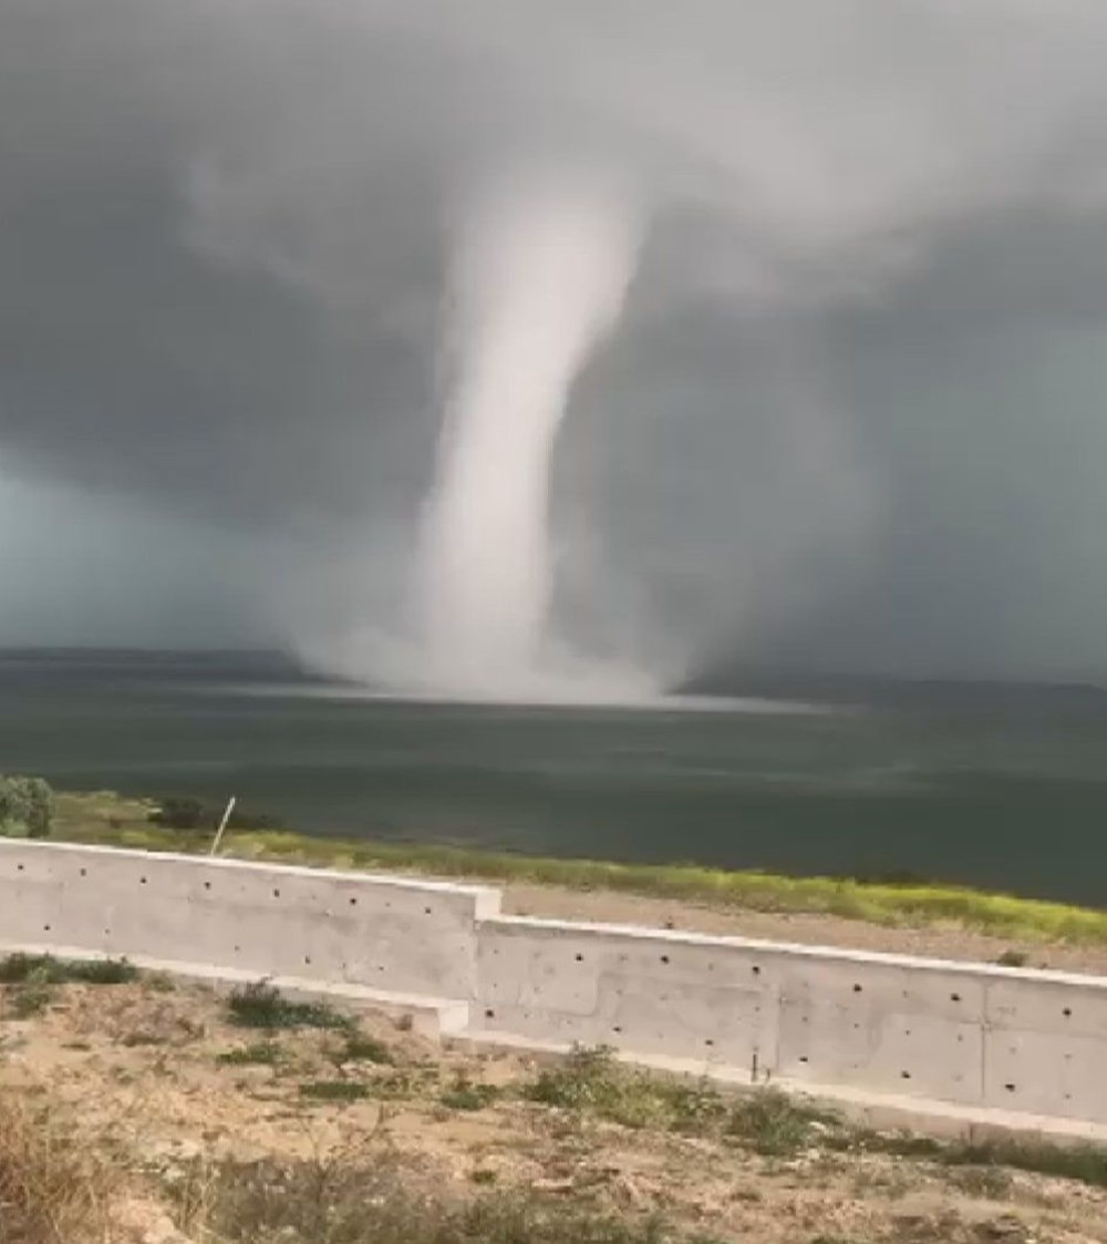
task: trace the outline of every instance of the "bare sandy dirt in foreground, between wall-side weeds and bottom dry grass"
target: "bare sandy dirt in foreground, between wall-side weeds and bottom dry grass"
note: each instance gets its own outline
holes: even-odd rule
[[[376,1016],[359,1020],[358,1054],[350,1033],[236,1028],[224,999],[164,979],[58,985],[36,1014],[19,1009],[16,986],[0,988],[0,1097],[49,1100],[82,1142],[132,1172],[133,1230],[121,1227],[121,1242],[179,1240],[162,1207],[205,1163],[363,1161],[378,1147],[440,1189],[537,1188],[657,1212],[700,1239],[1107,1242],[1101,1188],[817,1143],[772,1156],[733,1138],[619,1126],[527,1100],[539,1072],[519,1056],[443,1051]],[[250,1057],[264,1061],[238,1061]]]

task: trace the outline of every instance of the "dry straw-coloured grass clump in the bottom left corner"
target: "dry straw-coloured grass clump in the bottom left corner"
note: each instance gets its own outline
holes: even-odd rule
[[[0,1096],[0,1240],[117,1244],[121,1178],[41,1107]]]

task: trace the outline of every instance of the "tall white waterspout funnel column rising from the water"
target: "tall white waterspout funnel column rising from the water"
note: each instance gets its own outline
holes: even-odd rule
[[[456,376],[419,554],[424,678],[442,690],[510,698],[556,680],[554,445],[575,377],[619,316],[637,246],[626,208],[576,185],[486,198],[463,230]]]

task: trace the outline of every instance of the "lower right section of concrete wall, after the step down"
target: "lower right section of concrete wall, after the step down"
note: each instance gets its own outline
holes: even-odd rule
[[[478,1029],[1107,1122],[1105,979],[507,918],[478,984]]]

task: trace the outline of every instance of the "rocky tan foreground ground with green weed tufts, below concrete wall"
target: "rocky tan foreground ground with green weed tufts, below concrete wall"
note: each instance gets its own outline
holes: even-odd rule
[[[700,1242],[1107,1242],[1107,1163],[1095,1154],[866,1137],[775,1097],[735,1101],[598,1056],[541,1069],[443,1051],[392,1021],[347,1023],[264,991],[233,1008],[164,978],[2,975],[0,1107],[24,1122],[41,1108],[66,1143],[106,1156],[113,1244],[306,1244],[295,1224],[234,1225],[226,1172],[254,1163],[311,1172],[321,1188],[347,1187],[353,1169],[459,1203],[537,1197],[566,1213],[657,1218]],[[2,1164],[0,1137],[0,1181]],[[347,1183],[364,1195],[368,1178]],[[31,1240],[14,1219],[5,1234],[11,1213],[0,1197],[0,1240]],[[312,1244],[377,1238],[326,1232]]]

